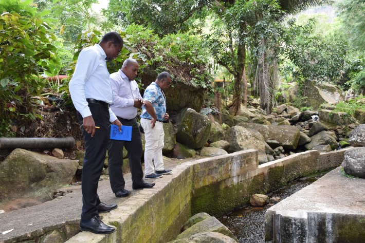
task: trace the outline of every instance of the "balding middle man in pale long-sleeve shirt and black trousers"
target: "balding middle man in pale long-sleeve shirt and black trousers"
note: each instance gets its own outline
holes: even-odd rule
[[[113,104],[111,109],[118,120],[125,126],[132,126],[131,141],[109,140],[108,145],[108,170],[109,180],[116,197],[125,197],[131,194],[124,189],[125,181],[122,173],[123,146],[128,152],[129,164],[132,173],[132,188],[152,188],[155,183],[143,181],[141,165],[142,141],[136,122],[137,109],[144,105],[139,93],[137,77],[138,62],[132,58],[126,59],[122,68],[110,76],[113,88]]]

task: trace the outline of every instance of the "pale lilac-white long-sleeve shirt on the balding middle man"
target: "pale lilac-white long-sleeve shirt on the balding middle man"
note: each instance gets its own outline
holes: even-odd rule
[[[134,99],[142,99],[137,82],[129,80],[121,69],[110,75],[110,82],[113,88],[111,109],[114,114],[128,120],[135,118],[137,108],[133,106]]]

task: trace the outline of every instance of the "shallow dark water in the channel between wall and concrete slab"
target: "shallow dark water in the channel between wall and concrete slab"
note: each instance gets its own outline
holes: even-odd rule
[[[324,174],[305,177],[288,183],[282,188],[273,191],[267,196],[279,197],[281,200],[305,188],[305,186],[319,179]],[[265,207],[252,207],[246,205],[238,210],[230,212],[218,218],[232,233],[240,243],[264,243],[265,242],[265,212],[273,204]]]

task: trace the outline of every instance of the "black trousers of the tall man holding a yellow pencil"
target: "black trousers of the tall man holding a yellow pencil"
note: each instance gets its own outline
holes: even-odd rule
[[[95,135],[92,137],[88,134],[83,126],[81,126],[85,141],[85,158],[82,166],[82,214],[83,221],[89,220],[98,215],[96,205],[100,203],[97,194],[98,183],[106,155],[106,149],[109,141],[109,110],[106,106],[100,104],[89,103],[95,126]],[[83,118],[78,112],[77,117],[80,124]]]

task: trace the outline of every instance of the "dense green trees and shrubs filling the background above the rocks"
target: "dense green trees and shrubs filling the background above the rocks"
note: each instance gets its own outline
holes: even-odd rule
[[[109,72],[135,58],[141,72],[149,65],[171,72],[175,83],[232,95],[231,114],[247,98],[259,99],[269,113],[292,82],[327,82],[365,94],[365,0],[110,0],[95,12],[96,3],[0,2],[0,136],[15,136],[15,124],[42,119],[31,97],[59,94],[63,105],[70,103],[68,82],[79,52],[108,31],[125,40]],[[332,14],[302,12],[315,6]],[[60,74],[68,79],[45,78]],[[233,82],[222,90],[211,85],[213,78]],[[294,105],[305,106],[301,96]]]

